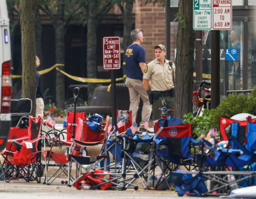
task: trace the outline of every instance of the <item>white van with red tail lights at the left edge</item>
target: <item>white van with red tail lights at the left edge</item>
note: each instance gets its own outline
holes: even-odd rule
[[[11,43],[6,0],[0,0],[0,151],[5,146],[11,126]]]

